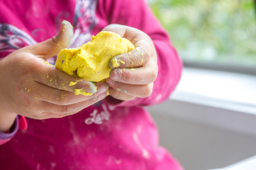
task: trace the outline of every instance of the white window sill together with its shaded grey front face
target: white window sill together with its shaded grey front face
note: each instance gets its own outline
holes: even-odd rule
[[[256,76],[184,68],[170,100],[149,110],[256,136]]]

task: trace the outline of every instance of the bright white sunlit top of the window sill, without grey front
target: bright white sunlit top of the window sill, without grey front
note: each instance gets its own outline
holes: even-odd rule
[[[256,76],[184,68],[171,99],[256,115]]]

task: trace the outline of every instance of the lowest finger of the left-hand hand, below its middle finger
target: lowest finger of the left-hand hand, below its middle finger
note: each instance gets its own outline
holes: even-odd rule
[[[95,98],[91,98],[89,100],[79,102],[76,104],[64,105],[64,106],[42,101],[42,103],[40,104],[40,107],[44,112],[50,112],[50,113],[61,114],[61,115],[71,114],[71,113],[77,113],[78,111],[81,111],[82,109],[89,107],[100,100],[103,100],[106,96],[107,96],[107,93],[105,92],[103,94],[100,94],[99,96],[96,96]]]

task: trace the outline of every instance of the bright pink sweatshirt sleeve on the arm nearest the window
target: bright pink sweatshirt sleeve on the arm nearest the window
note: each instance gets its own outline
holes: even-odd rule
[[[166,31],[152,14],[145,0],[99,0],[105,9],[108,23],[135,27],[148,34],[158,55],[158,76],[152,94],[147,98],[135,98],[117,106],[151,106],[164,102],[177,85],[182,61],[170,43]]]

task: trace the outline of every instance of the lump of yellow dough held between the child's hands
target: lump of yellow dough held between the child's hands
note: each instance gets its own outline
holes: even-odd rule
[[[71,76],[100,82],[109,77],[108,62],[116,55],[127,53],[134,45],[120,35],[101,31],[92,41],[74,49],[63,49],[58,54],[55,66]]]

